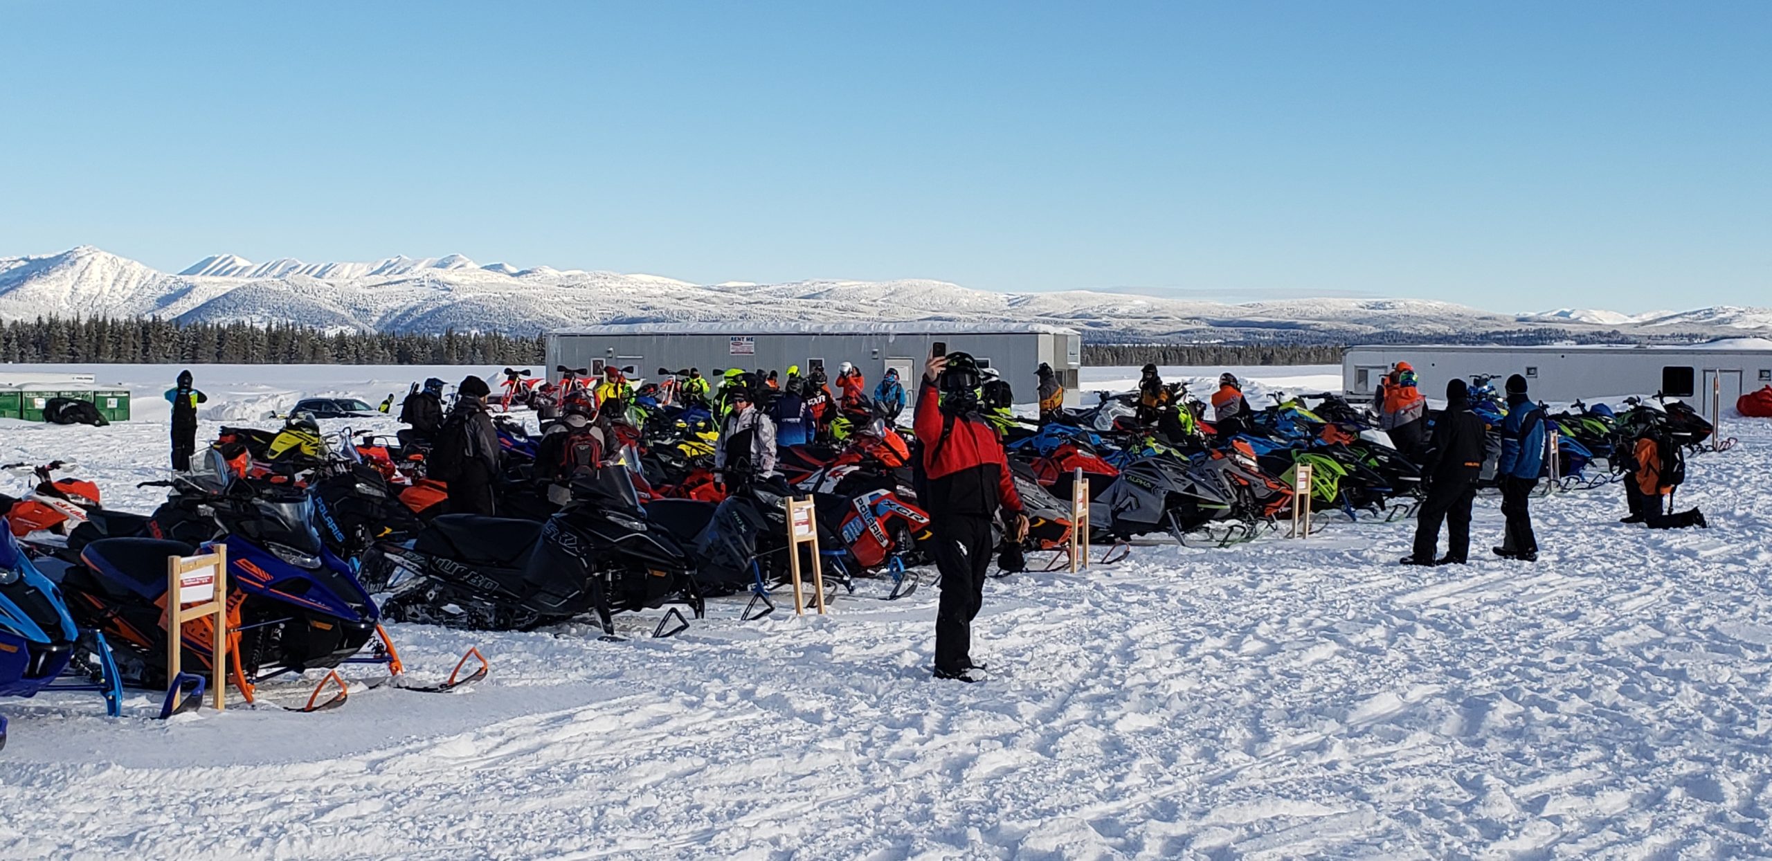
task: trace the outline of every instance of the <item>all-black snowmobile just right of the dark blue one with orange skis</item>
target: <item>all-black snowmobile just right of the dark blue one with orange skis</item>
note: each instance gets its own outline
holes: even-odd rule
[[[445,514],[411,546],[377,544],[363,572],[370,588],[393,592],[383,609],[400,622],[526,631],[595,613],[615,638],[613,613],[682,604],[703,615],[688,556],[647,523],[618,466],[574,478],[572,503],[546,523]],[[673,606],[654,636],[686,627]]]

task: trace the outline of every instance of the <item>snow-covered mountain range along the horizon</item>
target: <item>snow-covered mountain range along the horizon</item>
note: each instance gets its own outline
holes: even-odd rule
[[[51,314],[510,333],[599,322],[1017,321],[1070,326],[1097,342],[1652,340],[1772,330],[1772,308],[1738,306],[1515,315],[1425,299],[1230,305],[1090,291],[989,292],[934,280],[702,285],[656,275],[480,266],[462,255],[317,264],[213,255],[175,275],[92,246],[0,257],[0,319]]]

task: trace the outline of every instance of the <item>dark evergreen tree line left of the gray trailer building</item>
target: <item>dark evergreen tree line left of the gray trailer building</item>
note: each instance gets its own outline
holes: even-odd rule
[[[0,361],[234,365],[535,365],[542,335],[326,331],[292,322],[37,317],[0,326]]]

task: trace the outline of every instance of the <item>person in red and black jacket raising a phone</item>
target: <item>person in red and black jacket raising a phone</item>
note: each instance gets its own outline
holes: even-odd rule
[[[1010,478],[996,430],[978,413],[978,363],[966,353],[934,356],[916,393],[916,439],[930,514],[932,556],[941,570],[936,609],[936,679],[976,682],[973,618],[985,601],[985,570],[996,547],[991,519],[1001,516],[1010,535],[1028,533],[1028,516]]]

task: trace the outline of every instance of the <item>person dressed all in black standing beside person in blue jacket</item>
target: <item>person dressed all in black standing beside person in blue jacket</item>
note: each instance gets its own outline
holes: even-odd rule
[[[1416,547],[1403,565],[1464,565],[1471,555],[1471,501],[1483,471],[1483,420],[1471,411],[1471,390],[1462,379],[1446,381],[1446,411],[1434,423],[1426,468],[1428,498],[1416,514]],[[1439,526],[1446,521],[1446,555],[1434,558]]]

